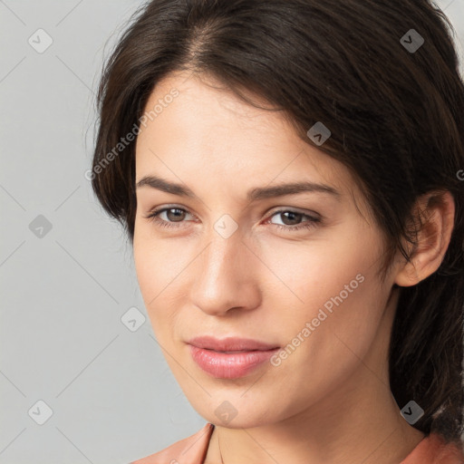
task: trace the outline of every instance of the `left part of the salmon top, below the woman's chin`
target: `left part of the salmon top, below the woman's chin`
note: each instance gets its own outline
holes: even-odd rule
[[[131,464],[201,464],[207,454],[213,429],[214,425],[208,422],[193,435]]]

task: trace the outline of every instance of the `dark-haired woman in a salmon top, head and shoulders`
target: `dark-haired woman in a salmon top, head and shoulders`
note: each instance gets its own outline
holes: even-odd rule
[[[464,462],[464,85],[437,7],[154,0],[99,103],[92,187],[208,420],[137,463]]]

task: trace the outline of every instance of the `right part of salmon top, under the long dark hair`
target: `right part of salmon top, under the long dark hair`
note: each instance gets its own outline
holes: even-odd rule
[[[458,443],[448,442],[438,433],[430,433],[401,464],[464,464],[464,454]]]

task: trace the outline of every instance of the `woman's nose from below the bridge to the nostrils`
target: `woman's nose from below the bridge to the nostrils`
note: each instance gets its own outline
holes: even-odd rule
[[[235,309],[252,310],[260,304],[257,257],[237,230],[221,237],[214,228],[198,256],[190,303],[204,313],[222,316]]]

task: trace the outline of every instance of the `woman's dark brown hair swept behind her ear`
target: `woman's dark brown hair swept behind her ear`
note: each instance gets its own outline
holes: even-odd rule
[[[262,97],[307,143],[306,132],[324,123],[332,135],[317,148],[362,188],[385,237],[383,271],[397,250],[409,257],[404,240],[417,237],[417,198],[449,190],[456,204],[449,248],[437,272],[401,288],[390,376],[399,406],[413,400],[424,410],[417,429],[459,440],[464,84],[451,32],[428,0],[151,1],[104,65],[91,177],[102,207],[132,241],[135,142],[114,148],[138,126],[157,82],[187,70],[250,104],[247,93]]]

